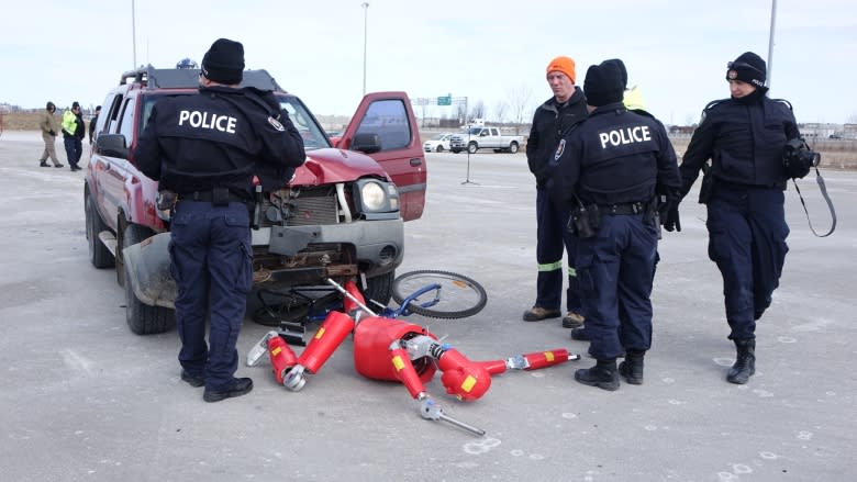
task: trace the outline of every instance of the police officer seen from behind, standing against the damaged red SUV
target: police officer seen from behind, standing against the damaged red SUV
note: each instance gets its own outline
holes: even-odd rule
[[[214,42],[202,59],[199,94],[159,100],[134,153],[146,176],[178,194],[169,247],[178,358],[181,379],[205,385],[205,402],[253,389],[253,380],[234,377],[253,284],[253,176],[279,172],[285,184],[305,158],[300,134],[272,93],[238,88],[243,70],[243,45]]]

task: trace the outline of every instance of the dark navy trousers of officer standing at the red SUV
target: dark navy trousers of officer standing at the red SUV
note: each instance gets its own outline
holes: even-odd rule
[[[170,233],[179,362],[190,374],[204,375],[208,389],[221,390],[232,383],[238,367],[235,343],[253,285],[249,213],[236,202],[214,206],[179,201]]]

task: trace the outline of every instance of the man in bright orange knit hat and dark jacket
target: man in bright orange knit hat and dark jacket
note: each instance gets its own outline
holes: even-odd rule
[[[547,83],[554,97],[536,109],[533,127],[526,141],[526,160],[536,181],[536,301],[524,312],[525,322],[538,322],[560,315],[563,302],[563,249],[568,253],[566,305],[563,326],[574,328],[583,323],[580,296],[572,288],[575,238],[566,229],[568,211],[548,193],[553,156],[563,134],[587,116],[583,91],[575,86],[575,60],[556,57],[547,65]]]

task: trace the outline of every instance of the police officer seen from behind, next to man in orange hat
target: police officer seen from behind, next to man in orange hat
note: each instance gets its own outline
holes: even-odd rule
[[[557,148],[557,195],[572,211],[577,280],[587,314],[592,368],[575,379],[619,389],[620,374],[643,383],[652,345],[652,282],[658,227],[656,193],[677,195],[676,154],[664,125],[622,103],[615,60],[590,66],[583,83],[589,119]],[[626,352],[619,368],[616,358]]]

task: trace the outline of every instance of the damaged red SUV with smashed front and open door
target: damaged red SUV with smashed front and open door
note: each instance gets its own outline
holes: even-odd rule
[[[169,212],[157,209],[158,186],[137,168],[133,150],[153,105],[197,92],[198,69],[124,72],[102,103],[84,187],[86,237],[96,268],[116,269],[126,322],[141,335],[175,324],[169,274]],[[404,92],[367,94],[334,147],[296,96],[265,70],[242,86],[271,90],[303,135],[307,162],[280,189],[264,192],[252,232],[255,288],[287,292],[357,277],[364,294],[390,300],[404,254],[403,222],[425,204],[426,165]]]

